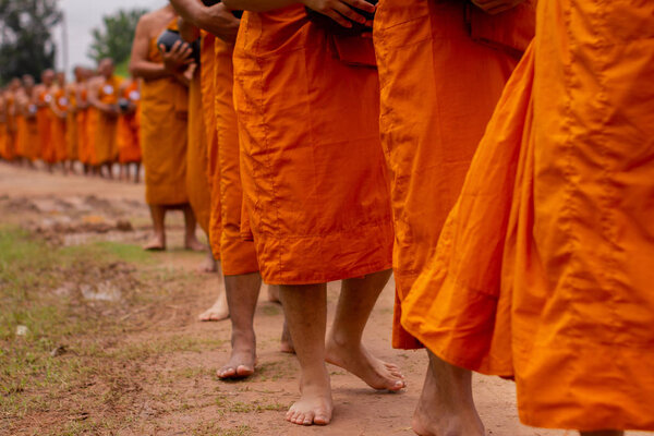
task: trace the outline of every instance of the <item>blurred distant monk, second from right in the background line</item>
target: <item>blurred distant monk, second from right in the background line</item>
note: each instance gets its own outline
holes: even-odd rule
[[[90,164],[108,179],[113,178],[113,162],[118,159],[118,93],[122,80],[114,70],[113,60],[102,59],[98,63],[97,77],[88,85],[88,117],[94,135]]]

